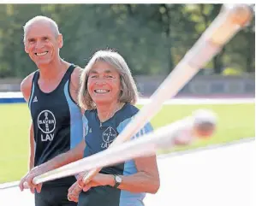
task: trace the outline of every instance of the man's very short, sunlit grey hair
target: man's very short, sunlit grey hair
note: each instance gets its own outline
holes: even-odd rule
[[[24,42],[26,41],[26,34],[27,34],[27,30],[28,30],[29,26],[32,26],[34,23],[39,22],[39,21],[40,22],[45,21],[45,22],[49,23],[51,25],[52,30],[55,33],[56,37],[60,34],[56,21],[53,21],[51,18],[49,18],[47,16],[37,15],[37,16],[33,17],[31,20],[27,21],[25,26],[23,26],[23,30],[24,30],[23,41]]]

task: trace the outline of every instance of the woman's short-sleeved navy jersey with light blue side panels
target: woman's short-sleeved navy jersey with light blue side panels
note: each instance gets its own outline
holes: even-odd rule
[[[92,156],[99,151],[106,150],[138,111],[139,109],[126,103],[113,117],[104,121],[101,125],[97,110],[87,110],[83,116],[84,126],[86,126],[84,156]],[[147,132],[152,132],[150,123],[147,123],[132,139],[139,138]],[[137,168],[134,160],[131,160],[103,168],[100,173],[131,175],[137,173]],[[145,193],[133,193],[116,189],[109,185],[96,186],[89,191],[80,193],[79,206],[141,206],[144,205],[142,201],[145,195]]]

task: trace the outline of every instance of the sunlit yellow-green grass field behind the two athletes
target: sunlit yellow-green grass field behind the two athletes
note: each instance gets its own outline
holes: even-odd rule
[[[141,106],[139,105],[139,108]],[[195,109],[212,109],[218,115],[215,135],[176,150],[204,147],[209,144],[227,143],[241,138],[254,137],[254,103],[229,105],[164,105],[152,119],[153,127],[161,127],[191,115]],[[29,150],[28,127],[30,113],[27,104],[0,104],[0,183],[21,180],[27,172]],[[171,152],[162,151],[162,152]]]

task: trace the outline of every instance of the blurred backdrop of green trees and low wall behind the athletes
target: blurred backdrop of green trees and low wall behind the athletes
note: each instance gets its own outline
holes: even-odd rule
[[[36,15],[57,21],[61,56],[68,62],[85,67],[95,51],[117,50],[148,97],[220,9],[221,4],[1,4],[0,91],[20,91],[21,79],[37,69],[22,43],[22,26]],[[179,96],[254,97],[254,21]]]

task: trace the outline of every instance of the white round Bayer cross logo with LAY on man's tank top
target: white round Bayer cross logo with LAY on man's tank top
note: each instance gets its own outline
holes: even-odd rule
[[[50,110],[41,111],[38,116],[38,126],[39,129],[43,132],[41,134],[42,142],[52,141],[54,138],[54,132],[56,127],[56,119],[53,113]]]

